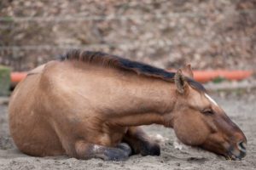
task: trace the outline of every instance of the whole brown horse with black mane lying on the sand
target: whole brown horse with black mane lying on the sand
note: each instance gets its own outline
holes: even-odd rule
[[[195,82],[189,65],[172,73],[73,50],[31,71],[9,103],[11,135],[31,156],[159,156],[159,144],[138,127],[153,123],[174,128],[184,144],[234,160],[246,155],[245,135]]]

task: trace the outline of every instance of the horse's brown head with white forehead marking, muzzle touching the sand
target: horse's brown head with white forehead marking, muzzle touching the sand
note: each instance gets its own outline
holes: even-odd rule
[[[244,133],[194,81],[189,65],[177,71],[175,83],[177,102],[172,123],[177,138],[232,160],[246,156]]]

